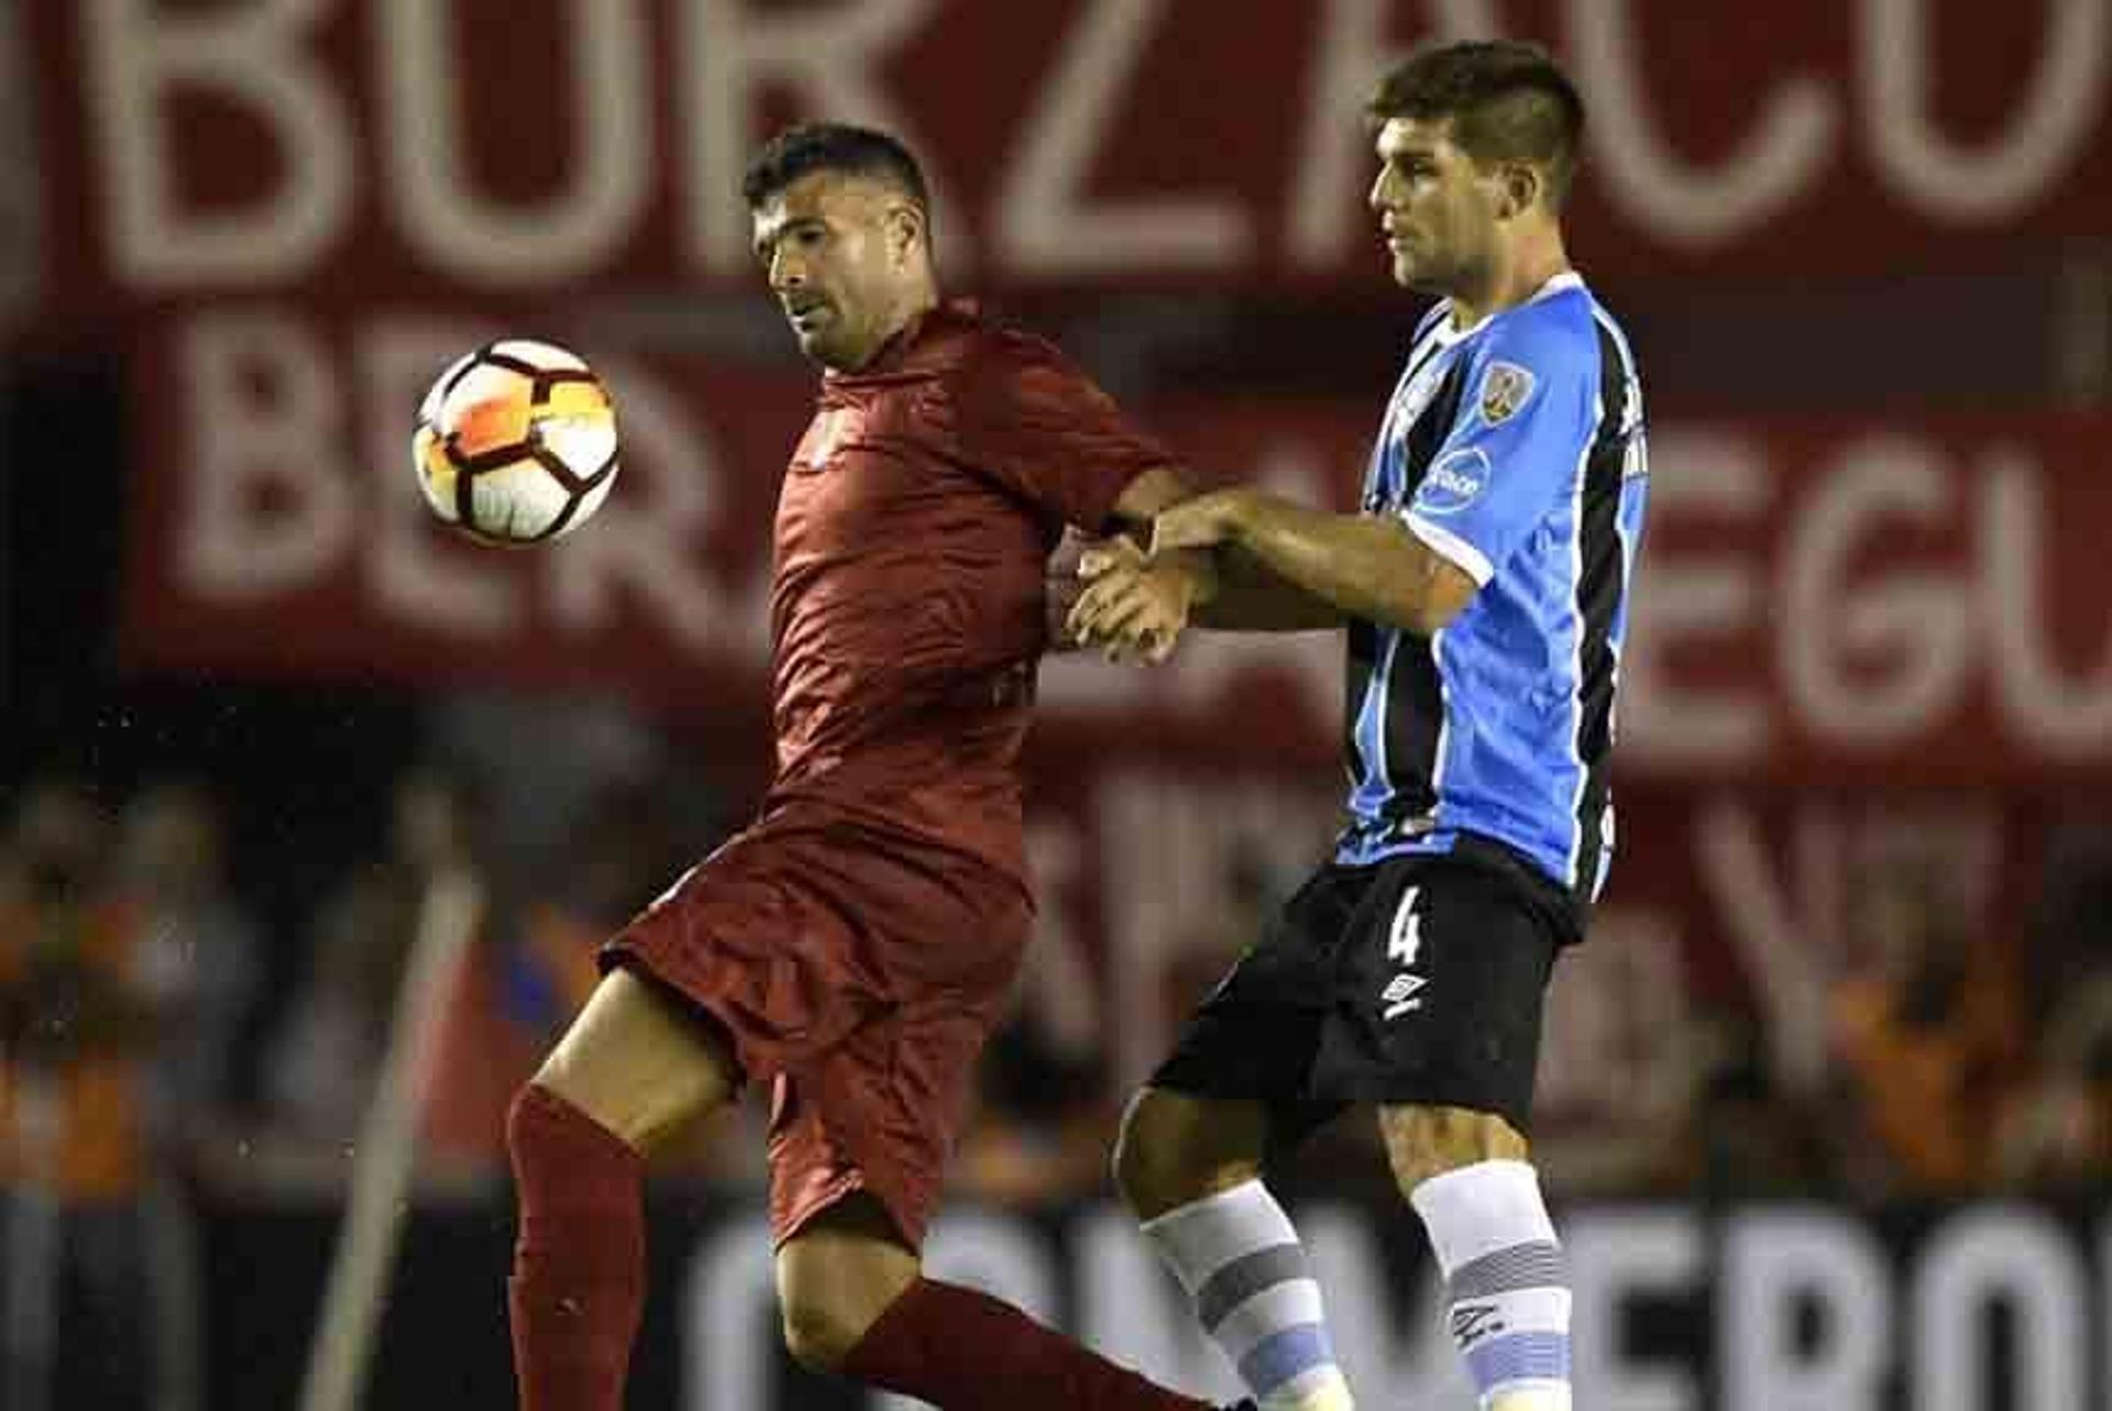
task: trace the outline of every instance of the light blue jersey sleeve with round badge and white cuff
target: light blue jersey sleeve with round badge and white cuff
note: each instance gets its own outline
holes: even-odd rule
[[[1402,518],[1483,585],[1576,492],[1597,435],[1599,344],[1544,319],[1500,330],[1464,374],[1459,414]]]

